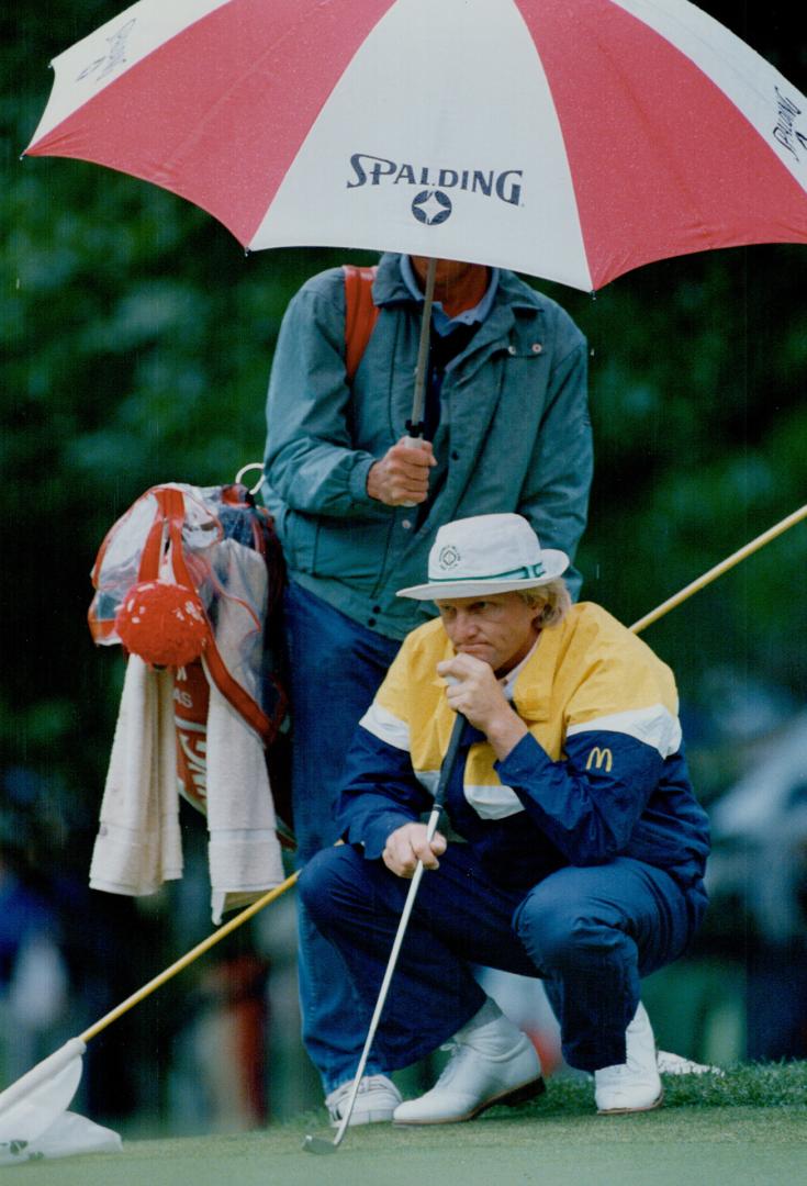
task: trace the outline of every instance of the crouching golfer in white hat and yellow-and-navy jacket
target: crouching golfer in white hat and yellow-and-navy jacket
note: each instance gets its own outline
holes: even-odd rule
[[[700,922],[706,816],[670,669],[600,606],[570,604],[566,563],[518,515],[440,529],[428,584],[401,591],[436,601],[440,618],[408,636],[358,728],[347,844],[300,880],[369,1019],[418,857],[430,871],[372,1060],[389,1072],[446,1042],[451,1057],[396,1123],[469,1120],[543,1090],[532,1044],[473,965],[544,980],[564,1057],[594,1072],[601,1112],[661,1102],[640,981]],[[421,816],[455,712],[466,725],[446,815],[459,839],[429,844]]]

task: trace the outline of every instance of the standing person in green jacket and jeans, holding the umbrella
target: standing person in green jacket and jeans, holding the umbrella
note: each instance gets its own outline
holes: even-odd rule
[[[424,320],[430,270],[435,304]],[[453,260],[429,268],[421,256],[386,253],[370,279],[377,321],[354,375],[345,358],[348,289],[333,268],[303,285],[287,310],[267,403],[263,499],[289,574],[301,866],[337,840],[344,758],[358,721],[402,639],[435,613],[396,591],[419,579],[437,527],[518,511],[547,544],[574,555],[591,480],[588,349],[555,301],[504,268]],[[418,413],[412,375],[424,325]],[[411,447],[414,432],[423,434],[421,447]],[[570,587],[577,592],[577,573]],[[303,1040],[339,1123],[366,1024],[341,959],[305,910],[299,975]],[[352,1123],[390,1120],[399,1103],[380,1070],[371,1053]]]

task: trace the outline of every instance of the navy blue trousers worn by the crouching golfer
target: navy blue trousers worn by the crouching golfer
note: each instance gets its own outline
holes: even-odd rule
[[[409,881],[344,847],[309,862],[299,888],[350,969],[366,1034]],[[704,906],[700,892],[629,857],[559,869],[527,893],[502,890],[467,846],[449,844],[421,881],[373,1064],[408,1066],[469,1021],[485,1001],[473,965],[545,980],[570,1066],[623,1063],[640,978],[681,954]]]

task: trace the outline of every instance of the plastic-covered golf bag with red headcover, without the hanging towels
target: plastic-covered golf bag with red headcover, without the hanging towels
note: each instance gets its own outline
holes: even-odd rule
[[[108,531],[88,618],[97,644],[120,643],[153,668],[171,669],[178,788],[204,814],[206,721],[217,688],[264,746],[278,835],[290,846],[284,580],[273,518],[245,486],[171,483],[146,491]]]

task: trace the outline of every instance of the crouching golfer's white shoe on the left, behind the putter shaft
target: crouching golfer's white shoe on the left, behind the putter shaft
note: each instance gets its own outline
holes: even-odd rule
[[[540,1060],[526,1034],[488,1000],[443,1047],[451,1057],[430,1091],[399,1104],[396,1124],[451,1124],[493,1104],[517,1104],[544,1091]]]

